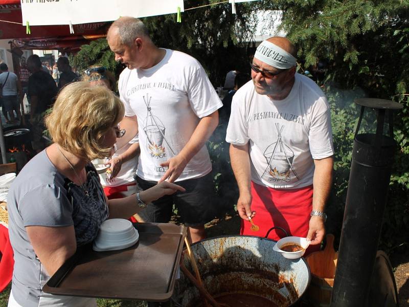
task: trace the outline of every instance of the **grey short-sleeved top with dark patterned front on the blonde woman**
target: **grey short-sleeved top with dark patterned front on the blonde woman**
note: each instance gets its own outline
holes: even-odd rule
[[[81,246],[94,240],[108,217],[98,173],[92,164],[85,169],[89,196],[59,173],[43,150],[26,164],[10,188],[9,234],[15,261],[12,292],[22,306],[38,306],[41,289],[50,278],[35,255],[26,227],[74,225],[77,246]]]

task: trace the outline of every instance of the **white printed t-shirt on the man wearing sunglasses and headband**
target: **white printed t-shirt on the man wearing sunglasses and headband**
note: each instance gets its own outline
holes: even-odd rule
[[[233,96],[226,141],[250,142],[253,182],[271,188],[309,186],[313,159],[334,152],[327,99],[314,81],[300,74],[283,100],[257,94],[249,81]]]

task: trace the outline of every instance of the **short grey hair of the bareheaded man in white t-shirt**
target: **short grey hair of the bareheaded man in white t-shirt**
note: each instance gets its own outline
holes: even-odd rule
[[[118,29],[119,39],[123,45],[131,46],[135,38],[141,36],[150,39],[148,29],[138,18],[121,17],[112,23],[109,30],[115,28]]]

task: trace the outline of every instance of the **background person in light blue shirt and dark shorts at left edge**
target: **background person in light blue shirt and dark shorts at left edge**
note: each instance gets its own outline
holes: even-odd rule
[[[15,119],[21,119],[20,112],[20,100],[22,97],[21,86],[18,83],[17,75],[15,73],[9,72],[9,68],[6,63],[0,64],[0,88],[2,89],[2,100],[4,111],[10,116],[10,123],[16,122]],[[19,94],[19,96],[17,95]],[[20,98],[21,99],[21,98]],[[14,111],[17,114],[17,118],[14,117]],[[7,122],[7,117],[6,117]]]

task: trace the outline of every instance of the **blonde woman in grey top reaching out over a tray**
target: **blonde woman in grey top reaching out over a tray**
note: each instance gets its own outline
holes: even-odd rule
[[[124,116],[106,87],[75,82],[64,87],[46,125],[54,144],[20,171],[9,192],[9,234],[14,272],[9,306],[96,306],[93,298],[54,296],[42,287],[77,247],[90,243],[107,218],[127,218],[163,195],[184,189],[162,182],[120,200],[107,200],[89,162],[106,157]]]

